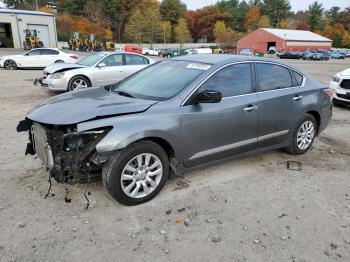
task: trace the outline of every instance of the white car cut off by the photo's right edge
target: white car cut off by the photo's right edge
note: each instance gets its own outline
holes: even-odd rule
[[[329,86],[334,89],[334,105],[350,106],[350,68],[335,74]]]

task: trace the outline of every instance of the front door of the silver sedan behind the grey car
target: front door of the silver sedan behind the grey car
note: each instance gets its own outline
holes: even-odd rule
[[[93,68],[93,75],[97,85],[112,84],[125,78],[123,54],[109,55],[99,64],[104,64],[104,66]]]

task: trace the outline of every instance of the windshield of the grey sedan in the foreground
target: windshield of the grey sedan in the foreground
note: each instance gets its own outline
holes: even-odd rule
[[[188,61],[166,60],[145,68],[111,91],[130,97],[163,101],[180,93],[210,65]]]

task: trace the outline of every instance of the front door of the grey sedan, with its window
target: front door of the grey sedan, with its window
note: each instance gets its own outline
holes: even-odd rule
[[[257,145],[259,100],[251,64],[219,70],[195,93],[205,90],[219,91],[223,99],[181,108],[186,167],[250,151]]]

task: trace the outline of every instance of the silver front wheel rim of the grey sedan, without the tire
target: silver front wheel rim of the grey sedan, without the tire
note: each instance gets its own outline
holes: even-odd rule
[[[133,157],[124,167],[120,177],[123,192],[131,198],[143,198],[151,194],[163,176],[160,159],[150,153]]]

